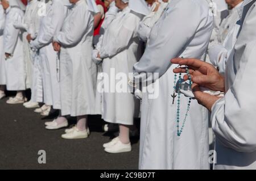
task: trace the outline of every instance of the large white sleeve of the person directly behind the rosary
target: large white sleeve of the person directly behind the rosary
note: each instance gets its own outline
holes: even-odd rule
[[[169,6],[152,28],[150,42],[141,60],[134,65],[134,72],[159,73],[159,77],[162,76],[170,68],[170,60],[179,56],[180,51],[195,35],[200,17],[200,9],[193,1],[180,0],[176,6]],[[142,82],[146,79],[144,75],[138,77]]]

